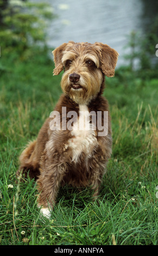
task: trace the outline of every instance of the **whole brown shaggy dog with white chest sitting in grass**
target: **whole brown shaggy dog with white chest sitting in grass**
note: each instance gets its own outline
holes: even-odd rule
[[[36,141],[22,152],[17,171],[17,175],[29,173],[37,179],[38,205],[47,217],[60,185],[91,186],[93,198],[98,195],[112,151],[108,101],[102,93],[105,75],[114,76],[118,58],[115,50],[99,42],[69,41],[53,54],[54,75],[64,69],[61,79],[64,94]]]

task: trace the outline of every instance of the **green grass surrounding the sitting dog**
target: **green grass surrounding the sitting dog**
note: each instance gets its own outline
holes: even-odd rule
[[[18,156],[36,138],[61,94],[46,52],[26,60],[1,56],[0,244],[157,245],[158,79],[106,79],[113,153],[100,190],[61,188],[51,220],[40,217],[34,180],[16,184]],[[13,187],[8,187],[8,185]],[[25,231],[25,234],[21,234]]]

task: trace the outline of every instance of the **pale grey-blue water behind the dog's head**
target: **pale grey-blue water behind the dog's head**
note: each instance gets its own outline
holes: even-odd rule
[[[48,0],[58,15],[48,27],[48,45],[57,47],[69,40],[103,42],[119,53],[117,66],[124,64],[131,31],[143,33],[144,2],[141,0]],[[152,1],[151,1],[152,2]],[[146,18],[148,19],[148,17]]]

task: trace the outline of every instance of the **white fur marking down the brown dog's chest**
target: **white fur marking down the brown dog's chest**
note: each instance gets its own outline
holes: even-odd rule
[[[68,147],[73,151],[72,161],[77,161],[82,152],[86,157],[90,157],[97,144],[97,138],[96,131],[90,123],[90,113],[86,105],[79,105],[79,118],[73,124],[71,135],[73,138],[68,140]]]

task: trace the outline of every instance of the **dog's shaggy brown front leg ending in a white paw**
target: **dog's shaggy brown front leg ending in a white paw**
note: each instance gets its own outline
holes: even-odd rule
[[[38,206],[41,207],[42,214],[48,218],[56,203],[56,196],[65,172],[65,164],[52,164],[49,167],[45,166],[44,169],[41,168],[41,175],[37,180]]]

